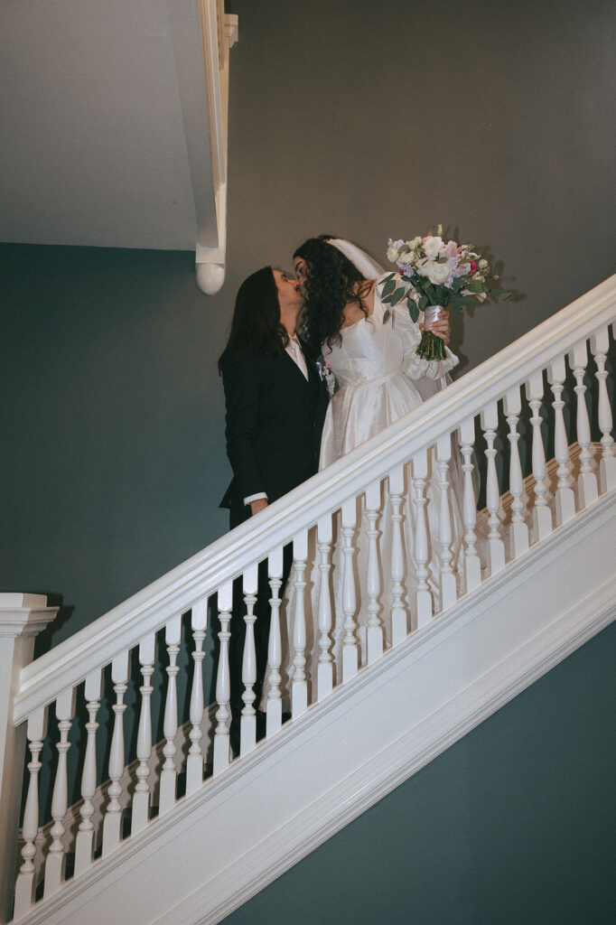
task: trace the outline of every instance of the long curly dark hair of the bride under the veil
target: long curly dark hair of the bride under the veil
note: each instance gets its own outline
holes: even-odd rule
[[[331,235],[309,238],[293,254],[306,262],[306,310],[304,338],[315,353],[321,345],[340,344],[344,307],[357,302],[364,314],[363,298],[370,291],[369,281],[337,247],[328,244]],[[359,286],[358,286],[359,283]]]

